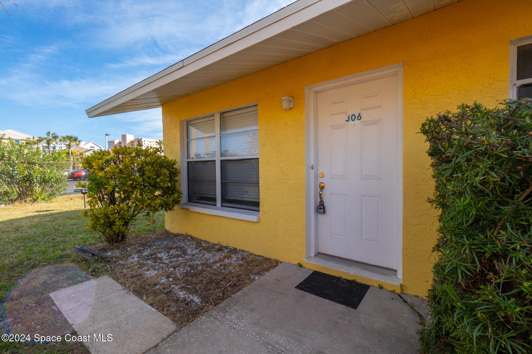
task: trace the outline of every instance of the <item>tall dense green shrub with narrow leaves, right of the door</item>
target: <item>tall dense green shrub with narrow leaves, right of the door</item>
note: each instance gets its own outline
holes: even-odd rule
[[[532,101],[428,118],[441,212],[425,353],[532,352]]]

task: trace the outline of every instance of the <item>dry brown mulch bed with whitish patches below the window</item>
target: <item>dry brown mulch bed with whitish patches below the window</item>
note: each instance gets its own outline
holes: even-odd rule
[[[111,278],[181,326],[279,264],[167,230],[91,250],[112,260]]]

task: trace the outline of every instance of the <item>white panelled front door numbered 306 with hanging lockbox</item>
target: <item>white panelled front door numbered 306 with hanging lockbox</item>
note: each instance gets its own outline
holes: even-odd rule
[[[319,253],[397,270],[397,85],[393,75],[317,94]]]

